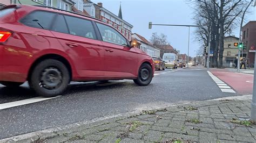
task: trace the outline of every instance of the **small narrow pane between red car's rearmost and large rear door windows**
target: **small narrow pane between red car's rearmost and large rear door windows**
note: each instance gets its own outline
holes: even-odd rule
[[[56,32],[61,32],[61,33],[67,33],[67,34],[69,33],[69,30],[63,15],[58,15],[56,17],[51,30]]]

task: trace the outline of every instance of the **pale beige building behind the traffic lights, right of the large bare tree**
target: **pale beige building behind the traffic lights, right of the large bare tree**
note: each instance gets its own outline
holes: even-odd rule
[[[239,42],[239,38],[228,36],[224,38],[223,66],[233,67],[234,60],[237,58],[238,47],[234,46],[234,42]]]

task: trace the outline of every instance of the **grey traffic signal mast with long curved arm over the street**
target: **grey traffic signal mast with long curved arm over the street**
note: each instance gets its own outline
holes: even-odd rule
[[[198,25],[177,25],[177,24],[152,24],[152,22],[149,23],[149,28],[152,28],[152,25],[158,25],[158,26],[183,26],[183,27],[200,27],[202,28],[208,35],[208,56],[207,56],[207,70],[210,69],[210,42],[211,42],[211,38],[210,38],[210,33],[208,32],[208,30],[206,30],[205,27],[203,26],[198,26]],[[189,48],[189,46],[188,46]],[[187,59],[188,61],[188,59]]]

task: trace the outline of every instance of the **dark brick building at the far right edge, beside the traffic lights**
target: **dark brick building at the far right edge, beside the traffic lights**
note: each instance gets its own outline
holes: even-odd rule
[[[242,42],[246,44],[244,50],[244,57],[247,59],[247,63],[250,67],[254,66],[254,53],[250,53],[249,50],[256,47],[256,21],[248,22],[242,27]]]

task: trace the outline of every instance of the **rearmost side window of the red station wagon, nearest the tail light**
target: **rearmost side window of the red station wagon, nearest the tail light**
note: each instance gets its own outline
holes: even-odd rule
[[[46,11],[34,11],[25,16],[20,22],[26,26],[49,30],[56,14]]]

